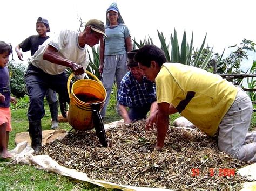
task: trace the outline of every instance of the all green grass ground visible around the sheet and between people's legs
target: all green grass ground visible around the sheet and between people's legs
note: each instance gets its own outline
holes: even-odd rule
[[[111,97],[110,105],[105,117],[105,123],[121,119],[116,113],[115,97]],[[10,133],[9,149],[15,148],[15,135],[28,129],[26,118],[27,101],[20,101],[21,108],[12,109],[12,132]],[[24,102],[24,103],[22,103]],[[170,118],[172,123],[179,115]],[[68,123],[60,123],[61,129],[70,130]],[[251,129],[256,126],[256,114],[252,118]],[[43,130],[51,129],[51,117],[45,104],[45,117],[42,120]],[[12,164],[9,159],[0,159],[0,191],[1,190],[109,190],[90,183],[81,182],[55,173],[38,170],[34,166]]]

